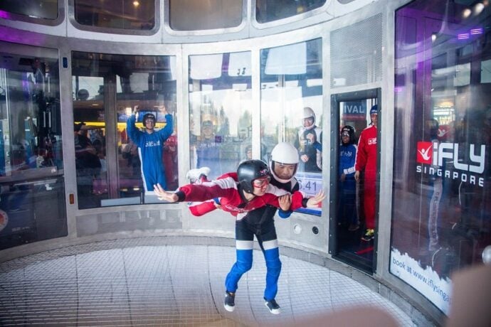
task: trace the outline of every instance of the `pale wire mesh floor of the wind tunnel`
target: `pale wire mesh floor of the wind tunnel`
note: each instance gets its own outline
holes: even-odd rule
[[[115,240],[3,262],[0,325],[268,326],[371,304],[401,326],[416,326],[366,286],[284,255],[276,297],[282,313],[273,315],[263,301],[266,271],[258,250],[230,313],[223,309],[224,280],[235,249],[178,243],[165,237]]]

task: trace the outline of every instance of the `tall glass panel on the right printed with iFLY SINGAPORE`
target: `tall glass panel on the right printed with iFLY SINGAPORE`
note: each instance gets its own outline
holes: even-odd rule
[[[447,314],[450,274],[491,244],[491,11],[458,2],[396,14],[390,271]]]

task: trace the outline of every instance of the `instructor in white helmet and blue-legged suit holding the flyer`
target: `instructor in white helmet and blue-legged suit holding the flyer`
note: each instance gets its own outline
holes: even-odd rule
[[[299,184],[294,177],[298,162],[299,156],[295,146],[287,142],[277,144],[271,152],[270,171],[273,178],[270,183],[290,193],[298,191]],[[245,218],[236,221],[236,263],[233,264],[225,280],[226,294],[223,306],[227,311],[235,309],[234,299],[238,282],[253,265],[255,235],[266,262],[265,306],[273,314],[280,313],[280,306],[275,301],[281,272],[275,213],[276,208],[267,205],[250,211]],[[279,211],[280,218],[288,218],[290,215],[291,211]]]

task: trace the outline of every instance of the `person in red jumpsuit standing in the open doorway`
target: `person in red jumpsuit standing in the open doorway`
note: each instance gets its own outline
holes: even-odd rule
[[[376,193],[376,154],[377,154],[377,117],[378,106],[375,104],[370,109],[371,124],[361,131],[358,141],[357,162],[354,166],[356,172],[354,179],[360,180],[360,171],[364,171],[364,213],[365,234],[361,240],[369,242],[374,239],[375,234],[375,193]]]

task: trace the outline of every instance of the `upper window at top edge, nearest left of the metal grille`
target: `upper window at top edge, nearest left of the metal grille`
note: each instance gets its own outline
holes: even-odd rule
[[[307,11],[312,11],[325,4],[326,0],[256,0],[255,19],[258,23],[268,23],[268,21],[278,21]]]

